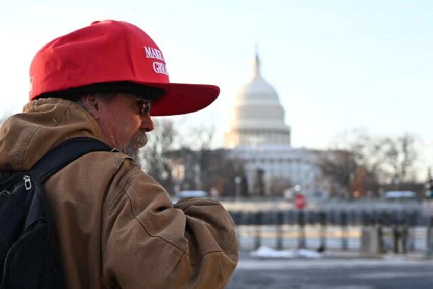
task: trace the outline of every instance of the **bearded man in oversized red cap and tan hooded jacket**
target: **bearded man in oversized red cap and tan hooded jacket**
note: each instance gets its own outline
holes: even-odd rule
[[[67,287],[224,287],[238,260],[228,213],[207,198],[173,205],[138,164],[151,116],[202,109],[219,88],[169,83],[155,42],[112,20],[47,43],[30,81],[30,102],[0,129],[0,171],[28,170],[78,136],[122,152],[86,154],[45,183],[51,244]]]

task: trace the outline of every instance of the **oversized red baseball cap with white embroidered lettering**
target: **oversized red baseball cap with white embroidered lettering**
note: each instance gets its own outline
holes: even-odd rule
[[[29,99],[84,93],[133,93],[152,101],[151,116],[196,112],[220,94],[215,85],[170,83],[164,56],[137,26],[96,21],[47,43],[30,65]]]

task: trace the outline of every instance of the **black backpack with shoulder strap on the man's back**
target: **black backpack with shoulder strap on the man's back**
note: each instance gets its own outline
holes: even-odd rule
[[[0,288],[64,287],[49,247],[51,217],[43,182],[81,155],[111,150],[94,138],[73,138],[29,171],[16,172],[0,183]]]

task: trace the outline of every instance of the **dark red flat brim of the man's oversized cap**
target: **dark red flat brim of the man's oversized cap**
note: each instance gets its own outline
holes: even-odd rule
[[[173,116],[197,112],[211,104],[220,94],[215,85],[183,83],[146,83],[162,88],[163,97],[152,101],[151,116]]]

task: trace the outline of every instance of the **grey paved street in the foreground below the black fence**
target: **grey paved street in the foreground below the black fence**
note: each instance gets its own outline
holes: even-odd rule
[[[243,251],[228,289],[431,289],[433,261],[423,252],[361,256],[327,252],[318,259],[257,258]]]

